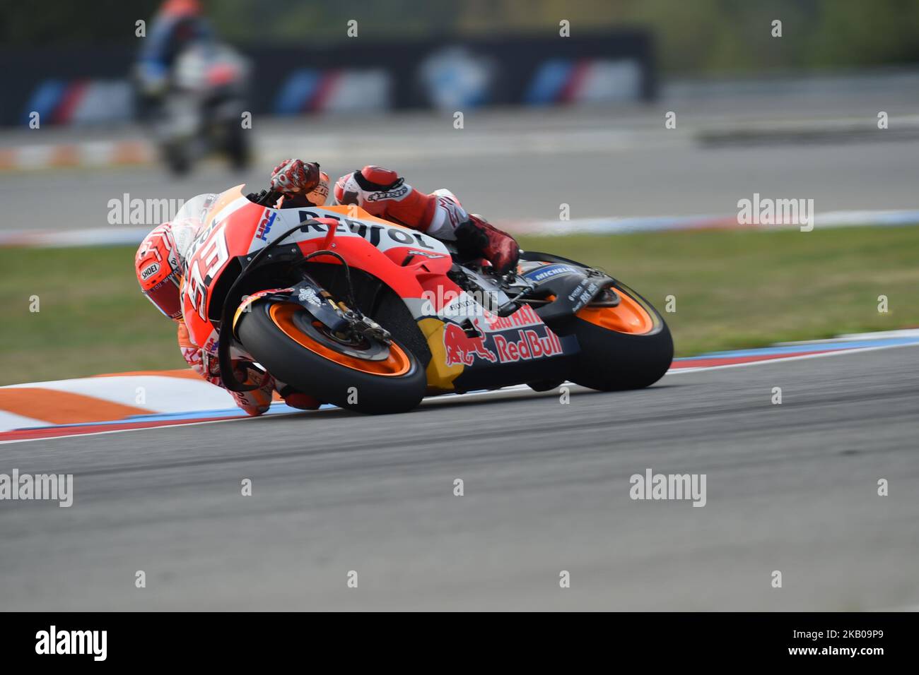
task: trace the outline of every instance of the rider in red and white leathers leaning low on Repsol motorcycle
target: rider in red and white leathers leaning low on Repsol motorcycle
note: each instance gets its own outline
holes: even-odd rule
[[[329,176],[319,164],[298,159],[284,160],[271,174],[270,190],[283,195],[280,208],[323,206],[329,196]],[[250,194],[256,201],[267,191]],[[498,274],[516,265],[520,255],[513,237],[500,231],[481,216],[467,213],[447,190],[426,195],[404,182],[396,172],[368,165],[335,182],[335,201],[355,204],[371,215],[399,222],[437,239],[455,242],[460,253],[488,260]],[[182,318],[180,288],[185,254],[199,223],[166,222],[155,228],[141,243],[135,257],[135,270],[142,293],[167,317],[178,324],[178,343],[188,366],[211,384],[223,387],[217,355],[191,341]],[[320,401],[278,382],[268,373],[234,362],[234,373],[250,391],[231,391],[236,404],[249,415],[268,410],[275,391],[294,408],[315,410]]]

